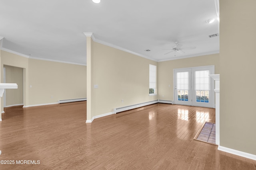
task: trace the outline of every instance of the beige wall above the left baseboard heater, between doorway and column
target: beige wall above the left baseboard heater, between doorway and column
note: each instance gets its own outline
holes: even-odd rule
[[[86,66],[35,59],[28,65],[29,105],[86,98]]]

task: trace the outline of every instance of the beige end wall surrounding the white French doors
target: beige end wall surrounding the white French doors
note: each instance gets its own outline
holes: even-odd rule
[[[186,59],[163,61],[158,63],[158,99],[174,100],[173,69],[214,65],[215,74],[219,74],[219,54],[191,57]],[[170,85],[170,87],[169,87]]]

